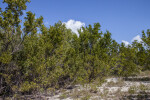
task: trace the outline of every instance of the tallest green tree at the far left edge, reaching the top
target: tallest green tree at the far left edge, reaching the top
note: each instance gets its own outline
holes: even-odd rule
[[[3,95],[12,93],[14,84],[19,84],[15,80],[15,77],[20,76],[17,56],[23,41],[19,17],[26,9],[27,2],[29,0],[4,0],[3,3],[7,3],[7,7],[5,11],[0,10],[0,94]],[[20,78],[18,77],[18,79]]]

